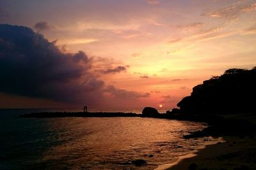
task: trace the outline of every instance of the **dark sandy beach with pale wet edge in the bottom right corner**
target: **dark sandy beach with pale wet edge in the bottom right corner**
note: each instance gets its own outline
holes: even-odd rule
[[[223,143],[206,146],[195,154],[182,156],[164,169],[256,169],[255,136],[225,136],[224,140]]]

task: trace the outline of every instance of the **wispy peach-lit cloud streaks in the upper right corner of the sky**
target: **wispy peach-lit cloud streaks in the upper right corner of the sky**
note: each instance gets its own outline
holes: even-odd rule
[[[179,36],[172,36],[166,40],[167,43],[179,43],[184,42],[201,42],[209,41],[212,39],[226,38],[234,35],[255,34],[254,27],[248,29],[238,29],[234,27],[234,24],[241,27],[237,22],[242,18],[242,15],[252,14],[256,11],[256,3],[252,1],[239,1],[230,6],[225,6],[217,10],[208,10],[202,13],[203,16],[212,18],[221,18],[221,22],[218,25],[205,24],[204,22],[192,22],[190,24],[176,25],[175,28],[180,30]],[[253,16],[252,16],[253,17]],[[212,22],[213,23],[213,22]],[[231,29],[230,29],[231,28]]]

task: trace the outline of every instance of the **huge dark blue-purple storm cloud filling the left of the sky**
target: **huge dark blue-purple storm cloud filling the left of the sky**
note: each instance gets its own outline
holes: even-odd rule
[[[84,52],[62,53],[28,27],[0,25],[0,92],[83,101],[104,86],[88,72],[91,62]]]

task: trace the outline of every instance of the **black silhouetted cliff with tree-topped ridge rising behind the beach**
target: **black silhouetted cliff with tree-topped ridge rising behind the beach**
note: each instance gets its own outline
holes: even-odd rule
[[[205,80],[177,106],[182,113],[191,114],[256,112],[256,67],[228,69]]]

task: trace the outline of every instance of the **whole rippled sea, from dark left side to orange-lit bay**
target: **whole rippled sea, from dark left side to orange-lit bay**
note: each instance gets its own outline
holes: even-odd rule
[[[184,134],[206,127],[188,121],[118,117],[18,118],[20,114],[35,111],[45,110],[0,110],[0,169],[154,169],[174,162],[179,155],[220,141],[183,139]],[[90,111],[138,113],[141,110]],[[147,165],[130,164],[136,159],[146,160]]]

